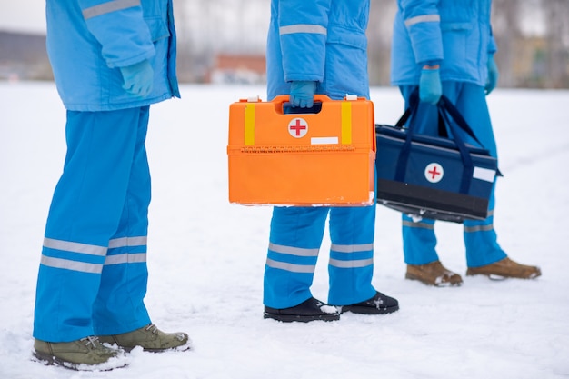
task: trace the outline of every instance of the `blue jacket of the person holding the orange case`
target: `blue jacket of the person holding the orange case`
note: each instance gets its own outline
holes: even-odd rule
[[[290,82],[319,82],[316,93],[369,98],[369,0],[272,0],[267,38],[267,95],[290,93]]]

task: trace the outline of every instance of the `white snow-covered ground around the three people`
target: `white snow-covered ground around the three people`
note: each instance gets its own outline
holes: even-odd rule
[[[265,88],[184,85],[153,106],[146,304],[195,349],[148,354],[111,372],[30,360],[45,216],[65,155],[65,110],[51,83],[0,83],[0,378],[563,378],[569,377],[569,91],[496,90],[489,97],[504,178],[494,225],[510,257],[538,264],[535,281],[466,277],[458,288],[404,279],[399,216],[378,208],[374,285],[400,301],[384,316],[280,324],[262,317],[271,208],[227,201],[228,105]],[[374,88],[375,120],[403,103]],[[464,274],[462,227],[436,224],[443,263]],[[314,276],[326,300],[324,239]]]

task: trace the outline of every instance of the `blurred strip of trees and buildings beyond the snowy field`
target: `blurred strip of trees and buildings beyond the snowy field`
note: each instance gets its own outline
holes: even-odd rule
[[[182,83],[265,83],[270,0],[174,0]],[[369,72],[390,85],[396,2],[371,0]],[[494,0],[501,87],[569,88],[569,0]],[[0,3],[0,80],[52,80],[45,0]]]

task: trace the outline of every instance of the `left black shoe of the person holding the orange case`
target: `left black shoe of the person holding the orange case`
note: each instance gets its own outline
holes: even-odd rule
[[[322,303],[311,297],[304,303],[284,309],[275,309],[265,305],[265,313],[263,318],[272,318],[284,323],[300,321],[308,323],[309,321],[335,321],[340,319],[340,313],[332,306]]]

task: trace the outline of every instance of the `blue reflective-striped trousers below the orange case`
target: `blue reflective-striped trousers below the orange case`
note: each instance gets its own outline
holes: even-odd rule
[[[328,303],[372,298],[375,205],[275,207],[265,264],[264,304],[283,309],[312,297],[314,269],[330,215]]]

